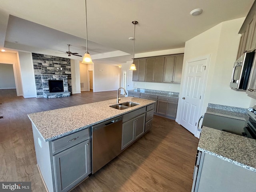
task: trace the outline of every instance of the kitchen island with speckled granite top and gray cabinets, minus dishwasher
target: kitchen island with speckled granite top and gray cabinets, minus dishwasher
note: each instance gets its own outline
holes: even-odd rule
[[[48,191],[70,191],[91,174],[93,126],[122,119],[122,150],[150,129],[154,101],[132,97],[120,101],[125,102],[135,105],[118,110],[110,107],[116,104],[113,99],[28,114],[38,169]]]

